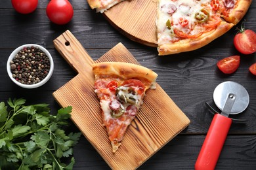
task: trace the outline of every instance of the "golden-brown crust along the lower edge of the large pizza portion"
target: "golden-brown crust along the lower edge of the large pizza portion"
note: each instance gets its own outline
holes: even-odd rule
[[[196,50],[217,39],[233,26],[234,24],[221,22],[217,29],[214,29],[213,31],[209,31],[207,33],[203,33],[197,39],[182,39],[181,41],[174,42],[173,44],[161,44],[160,46],[158,46],[159,55],[163,56]]]

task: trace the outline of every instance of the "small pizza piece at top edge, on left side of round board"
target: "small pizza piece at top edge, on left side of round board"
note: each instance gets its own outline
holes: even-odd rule
[[[103,13],[105,10],[110,9],[117,3],[121,3],[121,1],[125,0],[87,0],[87,3],[91,9],[96,9],[96,12]]]

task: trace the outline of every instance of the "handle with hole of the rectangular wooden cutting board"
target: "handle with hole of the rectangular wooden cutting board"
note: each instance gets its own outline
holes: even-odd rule
[[[94,63],[93,59],[69,30],[54,39],[53,44],[77,73],[91,72],[91,65]]]

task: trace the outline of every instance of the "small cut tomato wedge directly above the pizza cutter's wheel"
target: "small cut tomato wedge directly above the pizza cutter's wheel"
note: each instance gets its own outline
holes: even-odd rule
[[[230,56],[218,61],[217,66],[225,74],[234,73],[240,65],[240,56]]]

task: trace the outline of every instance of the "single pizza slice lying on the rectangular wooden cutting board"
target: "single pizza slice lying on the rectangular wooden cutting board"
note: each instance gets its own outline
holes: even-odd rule
[[[146,67],[121,62],[95,63],[93,73],[103,124],[112,151],[116,152],[143,103],[146,90],[156,88],[158,75]]]

